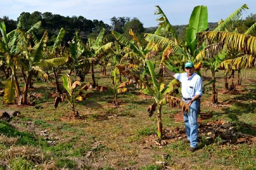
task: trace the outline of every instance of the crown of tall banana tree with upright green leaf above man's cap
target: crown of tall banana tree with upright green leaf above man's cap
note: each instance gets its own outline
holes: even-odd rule
[[[182,61],[183,65],[186,61],[195,62],[195,56],[204,48],[204,44],[199,44],[196,34],[202,32],[208,27],[208,12],[206,6],[196,6],[189,19],[189,26],[186,28],[186,41],[178,37],[177,32],[169,23],[166,15],[156,6],[155,14],[158,17],[159,28],[154,34],[145,34],[145,40],[149,42],[149,46],[157,44],[159,49],[172,48],[172,55]]]

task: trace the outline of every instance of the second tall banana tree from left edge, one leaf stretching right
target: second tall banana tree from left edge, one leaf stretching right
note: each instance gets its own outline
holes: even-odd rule
[[[21,67],[25,84],[22,103],[27,104],[28,87],[32,81],[32,77],[37,76],[38,78],[48,80],[48,74],[44,72],[42,67],[64,64],[67,61],[67,58],[59,57],[45,60],[44,52],[47,47],[46,43],[48,40],[47,31],[44,32],[41,40],[38,40],[32,33],[29,32],[24,33],[18,30],[18,33],[19,37],[17,49],[20,51],[20,59],[18,60],[18,64]],[[33,37],[33,43],[31,43],[29,37]],[[57,44],[58,43],[55,43],[55,45]]]

